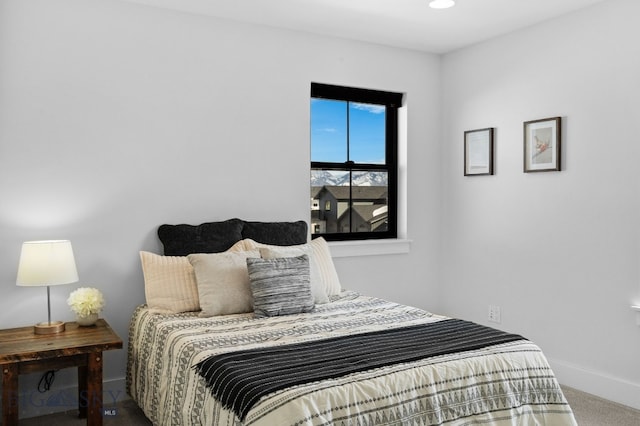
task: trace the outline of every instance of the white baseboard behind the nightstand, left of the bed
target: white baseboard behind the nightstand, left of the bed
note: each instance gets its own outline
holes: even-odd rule
[[[124,377],[103,381],[102,403],[107,410],[105,415],[114,415],[115,413],[109,412],[108,409],[114,407],[116,402],[129,399],[125,388]],[[40,393],[37,390],[20,391],[18,407],[21,419],[77,410],[78,387],[70,386],[45,393]]]

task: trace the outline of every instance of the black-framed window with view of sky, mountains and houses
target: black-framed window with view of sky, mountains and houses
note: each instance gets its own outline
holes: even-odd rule
[[[311,83],[313,237],[397,237],[401,103],[401,93]]]

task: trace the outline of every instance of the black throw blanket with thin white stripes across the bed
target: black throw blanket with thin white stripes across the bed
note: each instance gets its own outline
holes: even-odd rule
[[[223,406],[244,420],[261,397],[291,386],[517,340],[524,339],[469,321],[447,319],[222,353],[210,356],[194,368]]]

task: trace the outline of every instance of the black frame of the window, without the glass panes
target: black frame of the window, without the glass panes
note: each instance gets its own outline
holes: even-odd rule
[[[382,90],[311,83],[311,99],[328,99],[354,103],[384,105],[385,113],[385,163],[343,163],[311,161],[313,170],[335,170],[349,173],[357,171],[382,171],[387,173],[387,230],[378,232],[332,232],[312,234],[312,238],[324,237],[327,241],[390,239],[398,237],[398,109],[402,107],[403,94]],[[350,186],[351,188],[351,186]],[[352,206],[352,200],[350,200]],[[353,209],[349,208],[351,214]],[[352,220],[349,221],[353,223]]]

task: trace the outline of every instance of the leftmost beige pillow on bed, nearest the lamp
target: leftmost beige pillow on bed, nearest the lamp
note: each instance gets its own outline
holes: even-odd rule
[[[200,310],[193,267],[183,256],[140,252],[147,306],[155,313]]]

